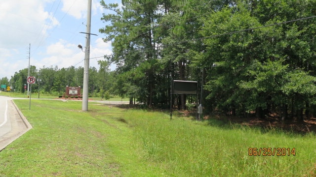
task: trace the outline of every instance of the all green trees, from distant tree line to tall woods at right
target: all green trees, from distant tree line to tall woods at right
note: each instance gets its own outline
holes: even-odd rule
[[[113,56],[90,68],[89,93],[105,91],[168,108],[172,80],[198,82],[204,114],[284,119],[316,114],[315,0],[122,0],[101,21]],[[109,63],[116,63],[115,71]],[[40,88],[82,86],[83,68],[31,67]],[[1,84],[24,91],[27,69]],[[6,82],[6,83],[5,83]],[[201,85],[202,93],[201,93]],[[185,109],[189,95],[174,95]],[[192,99],[191,99],[192,100]],[[199,104],[199,103],[198,103]]]

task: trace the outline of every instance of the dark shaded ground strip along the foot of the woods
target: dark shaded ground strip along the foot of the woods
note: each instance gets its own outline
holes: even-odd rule
[[[107,104],[108,105],[108,104]],[[165,114],[170,114],[169,109],[159,109],[156,107],[148,107],[144,104],[136,105],[111,105],[120,109],[136,109],[136,110],[147,110],[147,111],[157,111],[164,112]],[[198,115],[196,110],[193,111],[181,111],[173,110],[173,117],[182,117],[191,120],[198,120]],[[316,118],[310,118],[309,120],[297,120],[291,119],[283,121],[280,118],[270,117],[270,118],[239,118],[233,116],[225,115],[212,115],[201,119],[200,121],[207,121],[207,125],[216,126],[225,129],[258,129],[262,133],[285,133],[285,134],[307,134],[316,133]]]

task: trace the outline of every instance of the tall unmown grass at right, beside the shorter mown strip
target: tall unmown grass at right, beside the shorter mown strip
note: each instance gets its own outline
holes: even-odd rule
[[[165,114],[128,111],[144,158],[156,162],[168,176],[314,176],[316,138],[216,121],[169,120]],[[212,126],[209,126],[212,124]],[[248,148],[295,148],[295,156],[249,156]]]

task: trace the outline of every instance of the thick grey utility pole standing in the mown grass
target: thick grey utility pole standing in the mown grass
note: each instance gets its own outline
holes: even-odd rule
[[[89,61],[90,61],[90,30],[91,30],[91,2],[88,0],[87,11],[87,29],[85,39],[85,55],[83,70],[83,94],[82,94],[82,111],[88,111],[88,94],[89,94]]]

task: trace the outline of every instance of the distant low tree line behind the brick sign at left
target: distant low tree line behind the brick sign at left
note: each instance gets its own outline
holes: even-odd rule
[[[100,60],[98,65],[99,69],[95,67],[90,67],[89,69],[89,96],[91,97],[102,97],[113,86],[114,72],[110,71],[108,62]],[[27,89],[24,89],[24,85],[27,84],[28,70],[28,68],[25,68],[15,72],[10,80],[4,77],[0,80],[0,84],[12,87],[10,91],[27,92]],[[83,86],[83,67],[58,68],[58,66],[43,66],[37,69],[31,65],[30,76],[36,78],[36,84],[32,85],[32,92],[40,92],[41,94],[65,95],[66,86]]]

